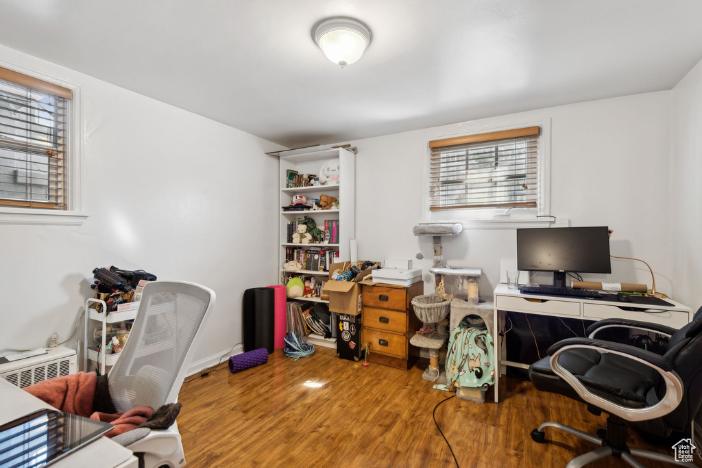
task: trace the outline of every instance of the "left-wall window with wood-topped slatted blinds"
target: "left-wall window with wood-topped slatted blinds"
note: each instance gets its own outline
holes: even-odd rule
[[[0,68],[0,205],[66,209],[71,97]]]

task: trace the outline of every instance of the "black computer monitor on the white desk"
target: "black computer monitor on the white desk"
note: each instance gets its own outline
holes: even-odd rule
[[[557,287],[566,272],[611,273],[609,228],[517,229],[517,270],[552,271]]]

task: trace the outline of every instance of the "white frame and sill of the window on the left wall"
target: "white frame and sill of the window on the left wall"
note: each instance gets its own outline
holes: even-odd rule
[[[18,64],[0,60],[0,67],[32,76],[48,83],[55,83],[72,92],[71,113],[69,116],[69,139],[66,155],[67,184],[66,209],[46,208],[15,208],[0,205],[0,224],[58,224],[64,226],[80,226],[88,219],[88,214],[82,211],[84,200],[81,193],[83,186],[83,112],[81,110],[81,87],[71,81],[49,76],[38,71],[21,67]]]

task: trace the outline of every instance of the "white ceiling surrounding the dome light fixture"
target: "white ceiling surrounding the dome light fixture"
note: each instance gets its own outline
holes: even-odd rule
[[[327,16],[373,42],[345,69]],[[3,0],[0,43],[286,146],[668,90],[699,0]]]

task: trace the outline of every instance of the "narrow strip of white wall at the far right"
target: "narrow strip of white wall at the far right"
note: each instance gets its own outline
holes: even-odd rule
[[[671,92],[670,238],[677,297],[702,305],[702,62]]]

